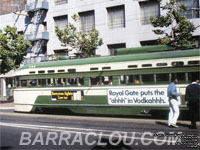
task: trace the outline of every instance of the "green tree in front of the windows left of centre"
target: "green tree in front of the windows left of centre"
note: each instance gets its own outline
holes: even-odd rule
[[[72,19],[77,23],[79,16],[73,15]],[[89,32],[83,32],[78,30],[74,24],[69,23],[69,26],[64,30],[56,27],[55,31],[61,41],[61,45],[69,45],[72,49],[76,49],[81,54],[81,57],[95,55],[95,50],[103,44],[103,39],[99,38],[99,32],[95,28]]]

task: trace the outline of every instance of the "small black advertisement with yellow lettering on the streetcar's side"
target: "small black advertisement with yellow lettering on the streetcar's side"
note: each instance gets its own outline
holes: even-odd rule
[[[83,101],[83,91],[51,91],[52,101]]]

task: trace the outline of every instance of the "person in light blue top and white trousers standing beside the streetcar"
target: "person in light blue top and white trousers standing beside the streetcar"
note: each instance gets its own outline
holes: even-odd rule
[[[177,119],[179,117],[179,106],[178,106],[178,98],[181,96],[177,93],[176,83],[178,83],[177,78],[172,78],[172,82],[169,84],[167,89],[167,95],[169,98],[169,116],[168,116],[168,126],[175,127]]]

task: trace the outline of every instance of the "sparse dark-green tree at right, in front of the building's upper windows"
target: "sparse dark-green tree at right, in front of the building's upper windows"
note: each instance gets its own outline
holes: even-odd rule
[[[161,4],[161,0],[158,2]],[[194,43],[192,33],[196,27],[183,15],[187,10],[186,6],[177,3],[177,0],[169,0],[161,8],[167,12],[165,16],[150,18],[152,25],[157,28],[153,32],[161,36],[159,42],[177,49],[192,45]]]

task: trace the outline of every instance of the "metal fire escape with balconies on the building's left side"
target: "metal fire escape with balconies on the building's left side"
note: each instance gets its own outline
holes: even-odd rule
[[[33,3],[25,6],[25,11],[29,14],[30,28],[29,34],[26,34],[26,39],[32,42],[32,47],[28,50],[31,57],[36,57],[39,54],[44,54],[49,33],[45,31],[46,23],[44,19],[48,11],[49,5],[47,0],[35,0]],[[42,28],[41,28],[42,27]]]

